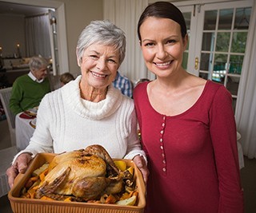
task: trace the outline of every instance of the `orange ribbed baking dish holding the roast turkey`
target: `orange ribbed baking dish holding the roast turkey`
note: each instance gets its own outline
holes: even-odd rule
[[[134,178],[138,187],[138,202],[136,206],[20,198],[20,191],[22,190],[22,187],[24,187],[26,181],[30,178],[32,172],[34,172],[35,169],[40,168],[42,164],[53,160],[55,155],[56,154],[52,153],[39,153],[35,156],[34,160],[31,161],[26,173],[17,176],[14,187],[12,187],[8,193],[10,205],[14,213],[142,213],[144,211],[146,205],[146,188],[142,179],[142,174],[132,160],[124,161],[128,167],[134,167]]]

